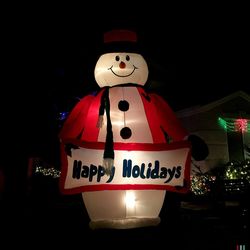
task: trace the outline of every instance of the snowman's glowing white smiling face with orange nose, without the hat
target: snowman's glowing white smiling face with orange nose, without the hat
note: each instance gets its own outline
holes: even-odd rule
[[[148,66],[140,54],[107,53],[98,59],[94,75],[101,88],[126,83],[144,85],[148,79]]]

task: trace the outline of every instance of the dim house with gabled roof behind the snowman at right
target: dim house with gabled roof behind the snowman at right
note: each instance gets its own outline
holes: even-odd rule
[[[190,134],[200,136],[209,147],[204,161],[192,161],[203,173],[228,162],[250,159],[250,96],[237,91],[204,106],[176,112]],[[196,168],[197,169],[197,168]]]

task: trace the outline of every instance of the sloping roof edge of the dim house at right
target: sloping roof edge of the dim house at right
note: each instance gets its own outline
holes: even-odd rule
[[[216,108],[216,107],[218,107],[218,106],[220,106],[228,101],[231,101],[235,98],[238,98],[238,97],[240,97],[240,98],[242,98],[250,103],[250,96],[246,92],[240,90],[240,91],[236,91],[230,95],[227,95],[221,99],[218,99],[216,101],[205,104],[203,106],[201,106],[201,105],[192,106],[192,107],[177,111],[176,116],[177,117],[186,117],[186,116],[191,116],[191,115],[196,115],[199,113],[207,112],[213,108]]]

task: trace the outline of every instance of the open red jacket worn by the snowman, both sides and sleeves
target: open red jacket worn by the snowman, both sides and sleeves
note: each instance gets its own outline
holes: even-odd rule
[[[187,136],[187,131],[161,96],[148,94],[142,87],[134,88],[141,97],[153,143],[166,143],[166,135],[172,141],[180,141]],[[59,137],[62,141],[80,139],[97,142],[99,128],[96,124],[103,91],[104,89],[101,89],[96,96],[87,95],[76,104],[60,131]]]

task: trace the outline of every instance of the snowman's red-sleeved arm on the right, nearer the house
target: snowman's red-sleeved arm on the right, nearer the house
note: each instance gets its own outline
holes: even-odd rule
[[[161,128],[168,134],[168,136],[174,141],[183,140],[187,137],[188,132],[182,126],[180,120],[176,117],[168,103],[157,94],[151,94],[150,99],[155,105]]]

